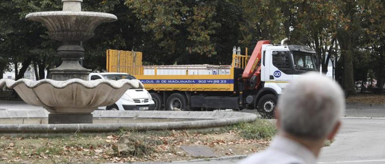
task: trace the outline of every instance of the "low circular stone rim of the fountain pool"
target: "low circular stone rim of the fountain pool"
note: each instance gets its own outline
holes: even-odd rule
[[[44,110],[0,111],[0,119],[47,118]],[[92,113],[98,118],[186,119],[193,121],[159,123],[93,123],[93,124],[0,124],[0,133],[75,133],[112,132],[120,130],[186,130],[218,128],[240,122],[251,122],[257,115],[243,112],[185,112],[185,111],[104,111]]]

